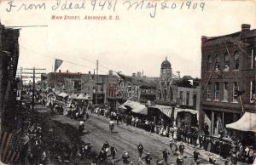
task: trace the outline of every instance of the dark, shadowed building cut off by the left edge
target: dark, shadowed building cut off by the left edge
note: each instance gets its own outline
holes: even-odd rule
[[[19,29],[6,28],[0,23],[0,126],[7,129],[11,129],[9,123],[14,119],[19,36]]]

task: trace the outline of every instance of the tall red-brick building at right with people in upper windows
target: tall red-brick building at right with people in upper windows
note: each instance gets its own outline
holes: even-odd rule
[[[199,124],[202,128],[208,117],[211,135],[236,122],[244,111],[255,112],[255,51],[256,30],[250,25],[229,35],[201,37]]]

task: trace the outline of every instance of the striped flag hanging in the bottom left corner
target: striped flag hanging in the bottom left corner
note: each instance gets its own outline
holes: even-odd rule
[[[17,162],[20,148],[19,136],[0,130],[0,164]]]

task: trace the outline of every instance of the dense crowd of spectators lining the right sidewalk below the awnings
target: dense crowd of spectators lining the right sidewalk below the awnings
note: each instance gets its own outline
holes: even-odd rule
[[[109,111],[106,108],[98,107],[92,111],[98,115],[109,117],[111,120],[116,120],[117,125],[119,122],[124,122],[126,125],[131,125],[137,128],[160,134],[161,136],[171,137],[176,142],[183,142],[187,145],[195,146],[198,149],[209,151],[210,153],[217,154],[224,159],[225,164],[237,164],[237,162],[246,162],[252,164],[255,157],[255,148],[251,146],[242,145],[236,139],[224,139],[220,137],[209,136],[208,126],[205,123],[204,131],[200,132],[197,128],[182,125],[180,128],[162,126],[161,122],[154,122],[145,118],[134,117],[131,113],[122,114],[118,111]],[[183,144],[182,143],[182,144]],[[183,151],[182,151],[183,152]],[[195,157],[198,157],[199,151],[195,151]],[[209,156],[209,162],[216,163],[216,157]]]

